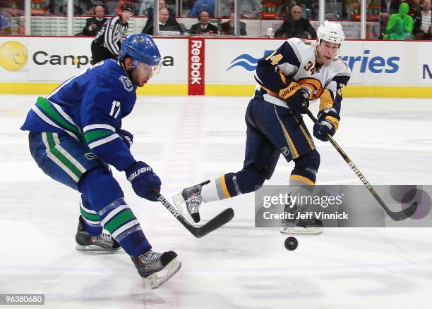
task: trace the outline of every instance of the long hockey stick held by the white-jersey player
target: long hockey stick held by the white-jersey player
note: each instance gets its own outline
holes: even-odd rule
[[[311,113],[311,111],[309,111],[308,108],[304,108],[304,110],[306,111],[306,114],[308,114],[309,118],[311,118],[311,120],[313,122],[315,122],[316,124],[319,124],[318,120]],[[340,153],[342,158],[344,158],[345,162],[348,163],[349,167],[353,170],[354,174],[356,174],[356,176],[359,177],[359,179],[364,184],[364,186],[366,188],[368,188],[369,192],[371,192],[373,197],[376,199],[376,201],[378,201],[380,206],[384,209],[385,213],[387,213],[388,216],[392,218],[392,220],[401,221],[401,220],[405,220],[408,217],[411,217],[412,215],[414,215],[414,213],[417,210],[417,202],[412,203],[411,206],[409,206],[408,208],[405,208],[404,210],[401,210],[401,211],[390,210],[390,208],[388,208],[388,206],[385,205],[383,199],[380,198],[378,193],[376,193],[375,189],[373,189],[372,185],[366,180],[366,177],[364,177],[364,175],[360,172],[359,168],[357,168],[356,165],[354,165],[354,163],[352,162],[352,160],[347,156],[347,153],[345,153],[342,150],[342,148],[337,144],[335,139],[333,139],[333,137],[330,134],[327,134],[327,137],[328,137],[328,140],[330,141],[330,143],[335,147],[337,152]]]

